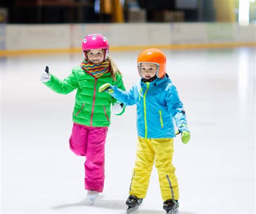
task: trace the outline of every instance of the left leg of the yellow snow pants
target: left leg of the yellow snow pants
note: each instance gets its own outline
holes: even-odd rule
[[[154,164],[154,151],[150,139],[138,137],[135,167],[133,168],[130,195],[145,198]]]

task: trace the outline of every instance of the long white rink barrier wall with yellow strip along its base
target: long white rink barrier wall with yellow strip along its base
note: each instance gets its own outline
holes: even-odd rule
[[[1,24],[0,56],[80,52],[83,37],[104,34],[111,51],[256,46],[256,25],[237,23]]]

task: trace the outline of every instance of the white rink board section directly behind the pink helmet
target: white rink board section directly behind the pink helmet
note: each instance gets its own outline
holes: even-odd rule
[[[162,45],[171,43],[170,24],[83,24],[72,25],[72,47],[80,47],[86,34],[101,33],[110,46]],[[82,38],[82,39],[81,39]]]

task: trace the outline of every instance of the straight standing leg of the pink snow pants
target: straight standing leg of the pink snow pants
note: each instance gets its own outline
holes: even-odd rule
[[[85,167],[85,189],[102,192],[105,180],[105,141],[107,128],[89,128]]]

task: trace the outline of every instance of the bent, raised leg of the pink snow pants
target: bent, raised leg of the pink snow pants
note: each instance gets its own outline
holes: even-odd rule
[[[88,127],[73,123],[69,147],[78,156],[86,155]]]

